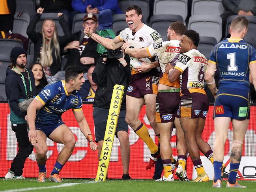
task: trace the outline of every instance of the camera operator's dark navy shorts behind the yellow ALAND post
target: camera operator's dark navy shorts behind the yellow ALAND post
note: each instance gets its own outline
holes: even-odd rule
[[[108,111],[109,109],[93,107],[93,120],[94,120],[94,129],[95,129],[95,141],[99,142],[104,140],[106,125],[108,120]],[[128,125],[125,122],[126,110],[120,110],[118,117],[118,123],[116,127],[116,133],[120,130],[128,132]],[[117,134],[116,134],[116,137]]]

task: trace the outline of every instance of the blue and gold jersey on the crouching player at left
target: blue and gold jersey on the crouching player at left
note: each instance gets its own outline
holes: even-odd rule
[[[72,109],[82,110],[82,99],[78,91],[68,94],[64,80],[48,84],[36,96],[43,107],[36,115],[36,121],[42,124],[54,124],[61,120],[62,114]]]

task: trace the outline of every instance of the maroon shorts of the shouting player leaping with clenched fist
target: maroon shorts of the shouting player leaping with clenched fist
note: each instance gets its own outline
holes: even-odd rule
[[[137,73],[131,76],[126,95],[144,97],[146,94],[157,94],[159,73]]]

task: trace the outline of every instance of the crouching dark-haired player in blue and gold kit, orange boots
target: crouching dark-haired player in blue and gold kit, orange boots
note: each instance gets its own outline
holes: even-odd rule
[[[71,156],[76,143],[73,133],[62,121],[61,116],[65,111],[73,110],[80,130],[90,143],[90,148],[93,151],[98,148],[92,140],[90,128],[82,111],[82,99],[78,92],[84,81],[80,67],[67,67],[65,80],[45,86],[28,106],[28,137],[36,149],[36,160],[39,167],[38,182],[45,182],[46,177],[45,163],[48,151],[46,137],[54,142],[64,144],[49,176],[49,180],[52,182],[62,182],[58,174]],[[37,110],[39,111],[36,112]]]

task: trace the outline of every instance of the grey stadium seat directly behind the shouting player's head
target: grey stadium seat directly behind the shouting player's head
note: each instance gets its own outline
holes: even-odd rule
[[[139,6],[142,10],[142,18],[143,22],[146,22],[148,20],[149,16],[149,0],[119,0],[118,6],[125,14],[125,10],[127,7],[131,5]]]

